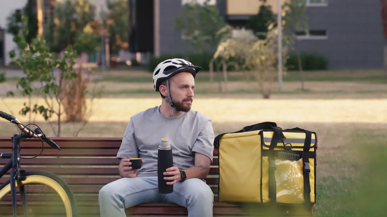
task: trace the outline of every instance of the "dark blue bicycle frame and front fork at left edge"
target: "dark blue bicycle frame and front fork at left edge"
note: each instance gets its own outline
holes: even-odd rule
[[[0,178],[2,178],[7,171],[9,171],[12,168],[12,171],[10,173],[10,184],[11,184],[11,200],[12,200],[12,211],[14,213],[14,217],[17,216],[16,211],[16,180],[23,180],[23,176],[21,173],[24,172],[24,170],[21,169],[20,166],[20,141],[23,139],[32,138],[29,134],[14,134],[12,137],[13,147],[12,147],[12,154],[11,153],[0,153],[0,158],[4,159],[10,159],[5,166],[0,169]],[[16,157],[14,157],[16,156]],[[5,185],[2,184],[0,186],[0,190],[4,188]],[[23,210],[24,215],[27,215],[27,196],[26,196],[26,190],[23,186],[20,186],[20,195],[22,198],[22,204],[23,204]]]

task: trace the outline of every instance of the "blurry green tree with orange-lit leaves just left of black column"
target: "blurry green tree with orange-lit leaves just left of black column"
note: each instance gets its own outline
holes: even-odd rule
[[[106,0],[109,10],[106,28],[108,31],[110,54],[128,47],[129,10],[127,0]]]

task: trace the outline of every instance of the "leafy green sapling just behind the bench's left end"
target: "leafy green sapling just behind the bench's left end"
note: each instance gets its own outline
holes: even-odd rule
[[[27,47],[26,23],[27,18],[22,16],[21,29],[13,39],[18,49],[9,53],[12,63],[19,66],[25,75],[16,86],[22,90],[23,96],[39,95],[45,103],[33,106],[24,103],[19,114],[26,115],[29,112],[41,114],[50,123],[55,135],[60,136],[62,121],[66,119],[65,110],[68,109],[64,102],[68,97],[72,97],[65,90],[68,89],[70,81],[78,77],[74,68],[77,51],[73,46],[68,46],[64,49],[63,58],[59,58],[56,53],[50,52],[45,39],[41,36],[34,38]],[[57,117],[56,129],[50,121],[54,116]]]

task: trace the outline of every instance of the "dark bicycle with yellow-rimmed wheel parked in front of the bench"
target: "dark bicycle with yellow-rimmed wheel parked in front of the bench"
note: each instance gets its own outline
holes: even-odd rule
[[[13,124],[16,124],[18,128],[21,130],[20,134],[14,134],[11,139],[13,142],[12,153],[0,153],[0,158],[10,159],[5,166],[0,170],[0,178],[7,173],[10,169],[10,179],[5,181],[2,185],[0,185],[0,201],[2,198],[11,194],[12,200],[12,212],[14,217],[17,216],[17,198],[16,198],[16,188],[19,188],[22,206],[24,211],[24,216],[28,215],[28,206],[27,206],[27,197],[26,197],[26,187],[27,184],[43,184],[51,187],[55,194],[60,196],[60,200],[63,202],[65,207],[66,217],[76,217],[78,216],[78,209],[76,205],[76,200],[74,197],[74,193],[70,189],[70,187],[62,180],[59,176],[47,172],[47,171],[25,171],[21,168],[20,163],[20,142],[24,139],[36,138],[40,139],[42,142],[42,150],[41,152],[34,157],[38,157],[43,152],[43,141],[50,145],[52,148],[56,148],[61,150],[56,142],[46,136],[40,129],[40,127],[36,124],[27,124],[26,126],[21,124],[19,120],[17,120],[14,116],[9,115],[5,112],[0,111],[0,117],[10,121]],[[35,125],[37,128],[32,131],[27,126]],[[44,187],[44,186],[43,186]],[[28,188],[28,186],[27,186]],[[43,189],[43,188],[42,188]],[[33,188],[32,190],[35,190]],[[47,197],[47,195],[43,194],[43,197]],[[39,200],[38,200],[39,201]],[[50,200],[51,201],[51,200]],[[47,206],[49,208],[49,206]],[[44,208],[46,209],[46,207]],[[54,209],[54,208],[53,208]],[[55,208],[56,209],[56,208]]]

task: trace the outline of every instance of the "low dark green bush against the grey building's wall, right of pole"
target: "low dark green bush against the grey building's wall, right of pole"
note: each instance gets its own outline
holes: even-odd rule
[[[327,70],[328,69],[328,60],[317,53],[308,53],[301,52],[301,66],[305,71],[313,70]],[[298,68],[298,59],[297,54],[292,53],[289,55],[288,60],[285,65],[289,71],[297,71]]]

